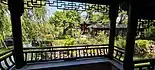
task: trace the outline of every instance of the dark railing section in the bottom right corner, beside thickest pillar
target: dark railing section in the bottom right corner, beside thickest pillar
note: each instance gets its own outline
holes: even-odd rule
[[[135,70],[155,70],[155,59],[134,60]]]

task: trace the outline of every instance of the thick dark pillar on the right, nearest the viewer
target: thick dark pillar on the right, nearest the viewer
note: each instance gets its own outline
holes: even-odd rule
[[[135,37],[137,32],[138,25],[138,16],[136,3],[133,2],[129,5],[129,19],[128,19],[128,31],[127,31],[127,40],[125,48],[125,57],[124,57],[124,70],[134,70],[133,63],[133,54],[134,54],[134,45]]]

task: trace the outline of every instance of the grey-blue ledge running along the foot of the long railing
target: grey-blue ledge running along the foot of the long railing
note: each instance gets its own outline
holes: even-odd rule
[[[122,64],[117,63],[116,61],[111,61],[104,57],[95,57],[95,58],[83,58],[78,60],[72,61],[54,61],[54,62],[40,62],[40,63],[33,63],[27,64],[22,69],[19,70],[50,70],[50,68],[57,68],[57,67],[67,67],[67,66],[74,66],[74,65],[83,65],[83,64],[94,64],[94,63],[111,63],[114,67],[118,68],[115,70],[123,70]]]

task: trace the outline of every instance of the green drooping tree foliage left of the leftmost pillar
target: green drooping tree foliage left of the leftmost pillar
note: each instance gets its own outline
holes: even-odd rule
[[[4,40],[6,37],[11,36],[11,23],[7,15],[9,15],[7,7],[0,4],[0,43],[5,47],[7,46]]]

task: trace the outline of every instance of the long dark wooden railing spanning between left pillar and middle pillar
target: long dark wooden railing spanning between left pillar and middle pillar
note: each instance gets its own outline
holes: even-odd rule
[[[79,58],[106,56],[108,45],[59,46],[24,48],[25,61],[75,60]]]

